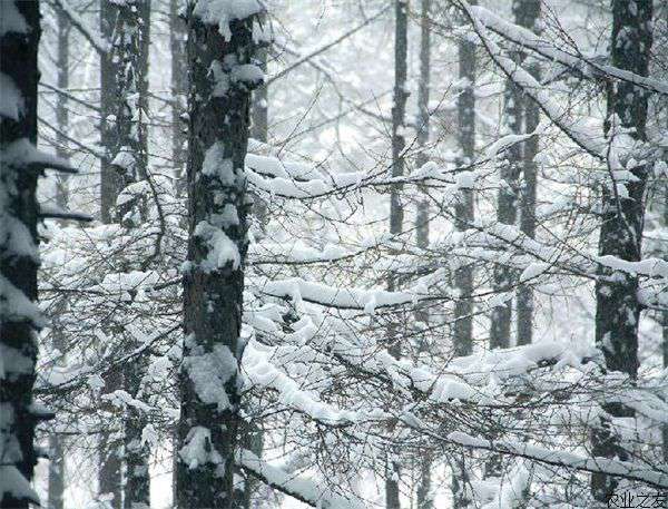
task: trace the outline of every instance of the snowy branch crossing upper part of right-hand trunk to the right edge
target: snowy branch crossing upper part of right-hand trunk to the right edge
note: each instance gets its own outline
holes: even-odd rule
[[[469,11],[475,16],[487,28],[503,37],[504,39],[534,51],[542,57],[559,62],[586,77],[613,78],[620,81],[629,81],[651,92],[668,95],[668,84],[657,79],[640,76],[626,69],[600,63],[583,55],[570,55],[533,33],[531,30],[514,25],[500,16],[491,12],[484,7],[470,6]]]

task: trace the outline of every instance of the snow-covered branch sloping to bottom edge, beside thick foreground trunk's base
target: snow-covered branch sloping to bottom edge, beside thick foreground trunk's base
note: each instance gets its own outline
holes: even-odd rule
[[[272,488],[318,509],[363,509],[361,500],[343,497],[312,479],[291,476],[263,461],[248,450],[236,454],[236,462],[250,476]]]

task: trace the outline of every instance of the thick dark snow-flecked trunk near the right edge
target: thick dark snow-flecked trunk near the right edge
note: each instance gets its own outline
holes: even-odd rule
[[[635,9],[630,9],[633,4]],[[612,1],[612,33],[610,37],[610,63],[640,76],[648,75],[651,51],[652,1]],[[610,84],[608,88],[608,117],[606,131],[610,144],[617,136],[630,136],[645,141],[647,123],[647,92],[630,82]],[[623,130],[626,134],[621,134]],[[638,160],[642,157],[637,157]],[[617,193],[615,183],[608,182],[602,189],[602,221],[599,235],[599,254],[625,261],[641,257],[641,239],[645,219],[645,189],[648,178],[646,165],[635,164],[632,157],[622,156],[626,169],[635,176],[623,185],[628,195]],[[609,168],[613,169],[613,168]],[[602,350],[606,369],[620,371],[635,380],[638,374],[638,321],[640,303],[637,296],[638,276],[605,266],[599,267],[596,284],[596,342]],[[633,417],[635,412],[622,403],[608,403],[603,410],[610,418]],[[610,418],[600,418],[600,425],[592,432],[595,456],[629,459],[620,444]],[[596,500],[606,502],[615,492],[618,481],[602,473],[591,476],[591,491]]]

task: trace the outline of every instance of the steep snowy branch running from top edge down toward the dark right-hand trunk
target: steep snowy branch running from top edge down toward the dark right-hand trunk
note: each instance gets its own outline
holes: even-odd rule
[[[605,160],[605,140],[600,136],[595,136],[591,129],[577,120],[568,121],[564,119],[566,111],[552,100],[546,88],[528,72],[522,66],[507,57],[499,46],[488,36],[484,23],[475,16],[472,7],[465,1],[461,2],[462,9],[471,20],[475,33],[482,41],[490,58],[499,68],[524,91],[548,116],[548,118],[559,127],[576,145],[583,148],[590,156]],[[569,125],[570,124],[570,125]]]

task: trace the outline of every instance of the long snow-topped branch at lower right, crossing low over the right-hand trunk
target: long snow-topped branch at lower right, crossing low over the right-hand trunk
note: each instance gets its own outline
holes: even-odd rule
[[[469,449],[482,449],[505,453],[543,464],[563,467],[589,473],[606,473],[612,477],[642,482],[658,489],[668,488],[668,471],[633,463],[631,461],[597,457],[591,458],[568,451],[550,450],[527,442],[487,440],[471,437],[461,431],[449,433],[444,440]]]

